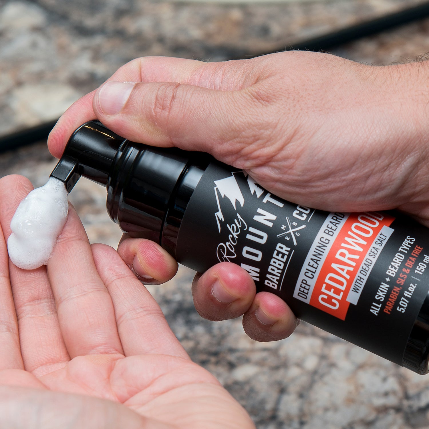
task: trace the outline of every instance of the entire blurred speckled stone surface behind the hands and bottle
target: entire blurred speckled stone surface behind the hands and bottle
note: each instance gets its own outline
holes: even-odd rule
[[[0,0],[0,136],[56,118],[126,61],[142,55],[202,60],[282,48],[421,1]],[[429,20],[335,49],[383,64],[429,51]],[[46,142],[0,154],[0,176],[45,183]],[[105,190],[81,180],[70,200],[91,242],[116,246]],[[214,373],[260,429],[429,427],[429,376],[415,375],[306,323],[257,343],[241,320],[212,323],[193,308],[193,273],[150,287],[192,358]]]

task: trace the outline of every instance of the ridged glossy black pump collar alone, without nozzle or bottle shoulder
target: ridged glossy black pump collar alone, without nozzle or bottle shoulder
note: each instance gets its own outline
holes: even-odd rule
[[[170,200],[187,165],[177,149],[125,142],[109,176],[110,217],[130,236],[160,243]]]

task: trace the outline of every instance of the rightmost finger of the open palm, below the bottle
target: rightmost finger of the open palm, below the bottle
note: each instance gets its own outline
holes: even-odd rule
[[[126,356],[160,353],[188,358],[159,305],[118,253],[92,245],[94,261],[115,306],[118,332]]]

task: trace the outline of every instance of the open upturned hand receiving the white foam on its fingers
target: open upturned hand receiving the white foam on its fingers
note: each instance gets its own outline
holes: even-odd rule
[[[72,207],[47,267],[8,269],[10,220],[31,189],[0,180],[0,426],[254,428],[116,251],[89,245]]]

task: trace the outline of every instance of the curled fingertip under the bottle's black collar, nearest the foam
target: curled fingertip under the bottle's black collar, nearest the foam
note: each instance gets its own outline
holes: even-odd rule
[[[131,239],[124,234],[118,254],[137,278],[145,284],[161,284],[172,279],[178,263],[162,247],[145,239]]]

